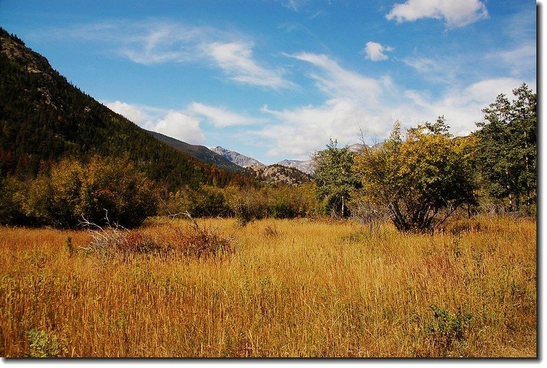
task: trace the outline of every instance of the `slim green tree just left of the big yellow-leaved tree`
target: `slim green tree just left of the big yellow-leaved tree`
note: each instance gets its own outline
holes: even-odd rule
[[[327,149],[314,154],[314,181],[318,199],[325,201],[325,210],[335,216],[347,217],[347,204],[359,180],[351,171],[353,153],[348,146],[338,149],[336,145],[338,142],[331,139]]]

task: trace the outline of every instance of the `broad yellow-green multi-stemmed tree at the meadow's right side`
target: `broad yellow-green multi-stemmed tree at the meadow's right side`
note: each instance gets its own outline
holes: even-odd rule
[[[390,138],[355,158],[362,196],[385,208],[402,232],[429,232],[463,204],[474,204],[474,175],[465,140],[448,134],[444,117],[401,136],[396,122]]]

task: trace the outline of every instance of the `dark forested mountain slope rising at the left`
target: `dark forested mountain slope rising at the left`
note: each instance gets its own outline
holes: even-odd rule
[[[48,60],[0,28],[0,177],[34,177],[71,156],[127,155],[170,189],[250,179],[170,147],[68,83]]]

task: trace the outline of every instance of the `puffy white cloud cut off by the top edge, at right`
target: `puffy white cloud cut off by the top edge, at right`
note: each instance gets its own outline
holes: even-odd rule
[[[407,0],[395,4],[385,16],[397,23],[422,18],[444,19],[448,27],[463,27],[488,17],[486,5],[479,0]]]

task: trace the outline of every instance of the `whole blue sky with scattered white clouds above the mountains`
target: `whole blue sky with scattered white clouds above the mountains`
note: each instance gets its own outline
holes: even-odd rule
[[[0,0],[0,25],[141,127],[265,164],[397,119],[465,135],[536,90],[529,0]]]

